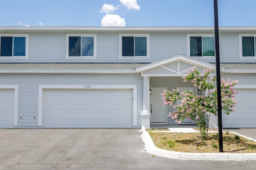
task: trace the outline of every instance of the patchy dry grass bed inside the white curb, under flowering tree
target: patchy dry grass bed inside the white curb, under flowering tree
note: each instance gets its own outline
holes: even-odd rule
[[[209,133],[208,140],[202,140],[200,133],[149,132],[158,148],[176,152],[218,153],[218,133]],[[256,142],[223,133],[223,151],[226,153],[256,153]]]

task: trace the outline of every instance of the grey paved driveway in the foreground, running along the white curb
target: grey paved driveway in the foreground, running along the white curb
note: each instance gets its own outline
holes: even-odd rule
[[[0,169],[254,169],[256,161],[179,160],[144,150],[138,129],[0,129]]]

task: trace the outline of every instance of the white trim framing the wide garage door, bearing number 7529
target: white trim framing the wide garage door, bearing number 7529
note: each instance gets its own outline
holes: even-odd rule
[[[43,89],[132,89],[133,127],[137,126],[137,85],[39,85],[38,87],[38,126],[42,126]]]

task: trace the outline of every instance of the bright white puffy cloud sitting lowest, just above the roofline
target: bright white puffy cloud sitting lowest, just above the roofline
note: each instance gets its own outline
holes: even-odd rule
[[[124,18],[121,18],[119,15],[116,14],[106,14],[102,20],[102,26],[125,26]]]

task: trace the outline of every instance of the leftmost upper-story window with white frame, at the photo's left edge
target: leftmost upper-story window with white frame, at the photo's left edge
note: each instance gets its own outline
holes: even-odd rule
[[[28,34],[1,34],[1,59],[27,59]]]

